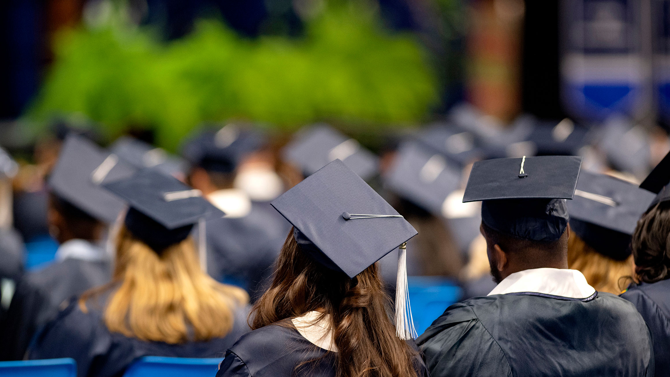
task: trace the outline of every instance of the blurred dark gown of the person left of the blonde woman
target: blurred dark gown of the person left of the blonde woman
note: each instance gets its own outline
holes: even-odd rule
[[[0,331],[0,360],[21,360],[34,334],[70,297],[107,284],[111,262],[66,258],[29,272],[17,284]]]

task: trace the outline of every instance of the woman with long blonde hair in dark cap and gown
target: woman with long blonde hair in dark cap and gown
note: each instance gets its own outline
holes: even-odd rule
[[[112,281],[70,301],[36,337],[29,358],[74,358],[78,377],[107,377],[141,356],[212,358],[230,347],[249,329],[249,297],[201,270],[190,237],[194,223],[223,213],[155,170],[105,188],[130,207]]]

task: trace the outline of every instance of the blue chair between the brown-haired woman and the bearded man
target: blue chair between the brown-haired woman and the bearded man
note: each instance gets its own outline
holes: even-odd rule
[[[407,276],[407,293],[414,328],[421,335],[435,319],[462,295],[460,287],[440,276]]]

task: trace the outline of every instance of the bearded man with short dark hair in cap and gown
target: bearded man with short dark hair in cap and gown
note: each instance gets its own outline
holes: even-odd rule
[[[567,269],[564,199],[581,162],[474,163],[463,201],[482,201],[498,285],[452,305],[419,336],[431,376],[653,376],[651,337],[635,308]]]

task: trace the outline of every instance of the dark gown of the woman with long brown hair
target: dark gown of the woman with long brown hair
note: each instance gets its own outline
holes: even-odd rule
[[[230,347],[216,377],[334,377],[336,355],[314,345],[294,327],[268,325],[247,333]],[[303,362],[310,363],[296,370]],[[427,376],[420,358],[415,360],[415,370],[418,376]]]

